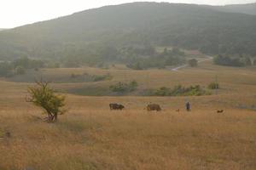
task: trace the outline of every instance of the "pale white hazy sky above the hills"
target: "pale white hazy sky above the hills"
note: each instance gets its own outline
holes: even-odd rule
[[[145,1],[149,2],[150,0]],[[253,3],[255,1],[256,0],[154,0],[153,2],[224,5],[230,3]],[[0,28],[11,28],[40,20],[49,20],[88,8],[130,2],[134,2],[134,0],[0,0]]]

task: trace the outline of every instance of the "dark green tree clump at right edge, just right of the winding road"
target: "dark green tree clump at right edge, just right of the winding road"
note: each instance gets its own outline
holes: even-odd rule
[[[218,54],[214,57],[213,62],[215,65],[226,65],[226,66],[249,66],[256,65],[256,59],[251,59],[248,56],[230,56]]]

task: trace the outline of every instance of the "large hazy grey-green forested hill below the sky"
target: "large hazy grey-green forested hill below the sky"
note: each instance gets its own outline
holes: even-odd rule
[[[255,30],[254,15],[192,4],[126,3],[2,31],[0,59],[86,58],[102,46],[145,44],[256,55]]]

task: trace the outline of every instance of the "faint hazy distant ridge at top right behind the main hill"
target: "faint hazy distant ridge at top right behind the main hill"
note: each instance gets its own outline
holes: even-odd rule
[[[224,12],[256,15],[256,3],[226,5],[223,7],[218,7],[218,9]]]

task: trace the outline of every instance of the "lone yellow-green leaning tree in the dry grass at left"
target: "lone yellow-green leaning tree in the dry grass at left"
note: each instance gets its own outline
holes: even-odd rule
[[[49,87],[49,82],[36,83],[36,86],[27,89],[30,97],[26,98],[26,101],[41,107],[48,114],[46,121],[56,122],[58,115],[65,112],[65,96],[56,94],[55,90]]]

